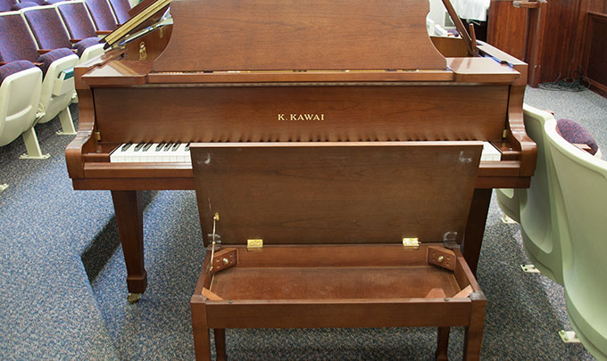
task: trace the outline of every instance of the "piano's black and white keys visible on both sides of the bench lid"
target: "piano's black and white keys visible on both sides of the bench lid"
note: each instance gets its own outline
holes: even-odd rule
[[[481,161],[500,161],[502,153],[493,144],[483,142]],[[148,143],[121,144],[110,154],[111,163],[191,163],[189,144],[185,143]]]

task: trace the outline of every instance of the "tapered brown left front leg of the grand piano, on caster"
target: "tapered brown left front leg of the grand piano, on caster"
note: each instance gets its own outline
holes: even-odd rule
[[[127,265],[127,287],[129,293],[141,294],[147,286],[141,191],[112,191],[112,201]]]

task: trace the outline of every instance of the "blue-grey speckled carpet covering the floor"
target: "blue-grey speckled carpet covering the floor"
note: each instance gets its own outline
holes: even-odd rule
[[[566,96],[566,98],[565,98]],[[607,149],[600,96],[528,89],[527,102],[576,119]],[[72,105],[77,119],[77,108]],[[561,114],[562,115],[561,115]],[[38,125],[50,160],[18,160],[21,139],[0,148],[0,355],[2,359],[193,359],[189,298],[204,258],[193,192],[146,192],[148,289],[126,301],[126,269],[109,192],[73,191],[57,119]],[[518,225],[492,204],[478,266],[488,308],[482,357],[491,360],[593,359],[564,344],[560,286],[528,275]],[[431,359],[435,330],[412,328],[229,330],[234,360]],[[461,358],[452,331],[450,357]]]

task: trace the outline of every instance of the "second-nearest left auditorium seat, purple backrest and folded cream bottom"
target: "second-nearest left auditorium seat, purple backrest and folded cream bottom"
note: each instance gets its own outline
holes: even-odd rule
[[[70,105],[74,94],[73,67],[79,58],[70,49],[55,49],[38,56],[36,41],[20,12],[0,12],[0,62],[27,60],[43,72],[38,123],[59,115],[63,134],[75,134]]]

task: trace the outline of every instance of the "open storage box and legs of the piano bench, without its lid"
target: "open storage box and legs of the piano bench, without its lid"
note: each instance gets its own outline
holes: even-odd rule
[[[211,357],[211,328],[218,360],[226,328],[434,326],[437,360],[446,360],[449,327],[466,326],[464,359],[479,357],[486,299],[458,249],[239,246],[210,264],[190,303],[197,360]]]

